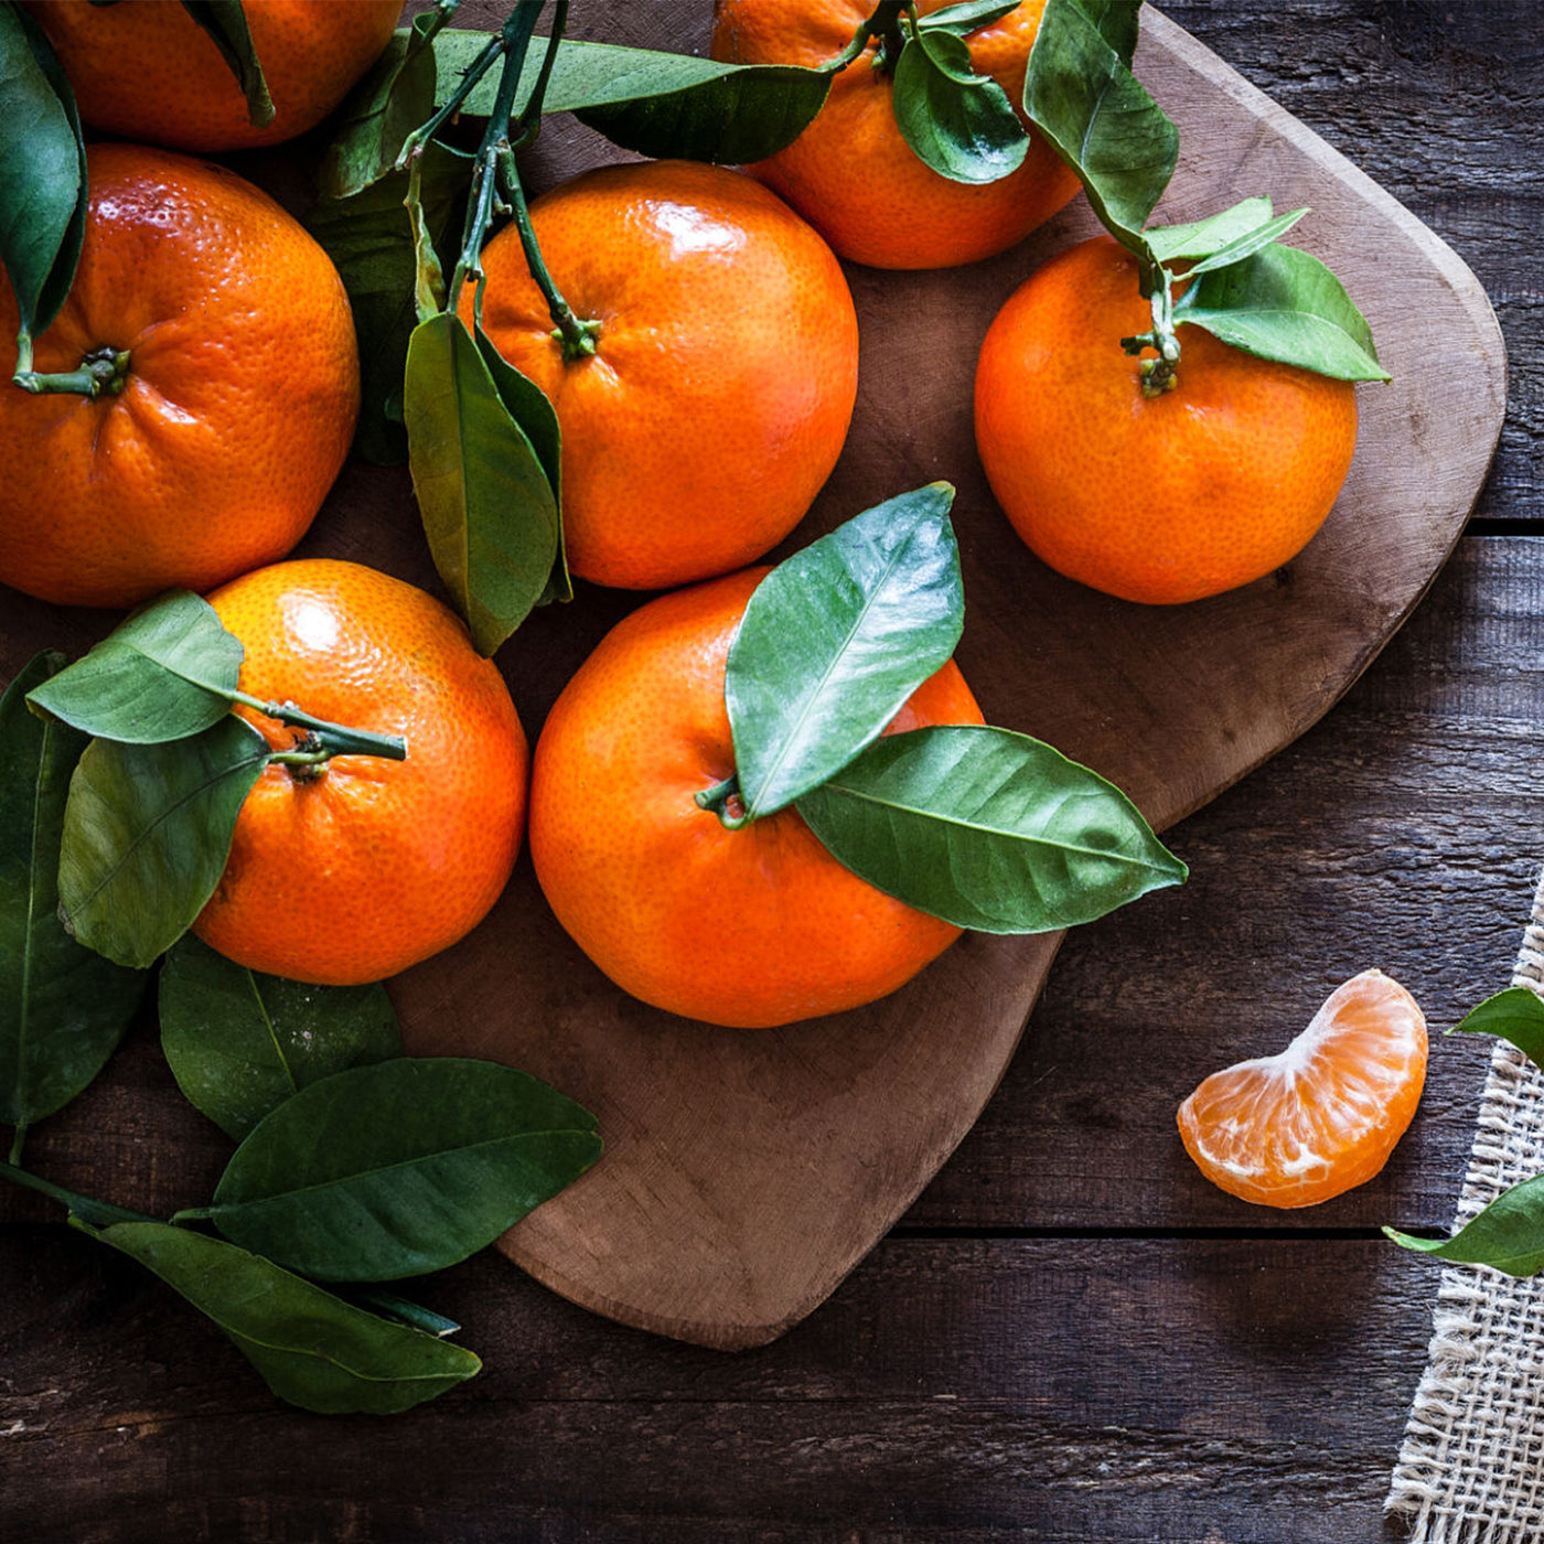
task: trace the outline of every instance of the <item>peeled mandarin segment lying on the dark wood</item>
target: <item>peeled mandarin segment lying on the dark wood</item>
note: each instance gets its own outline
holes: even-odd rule
[[[1277,1056],[1207,1078],[1180,1136],[1214,1184],[1261,1206],[1314,1206],[1371,1180],[1416,1113],[1427,1025],[1382,971],[1331,993]]]

